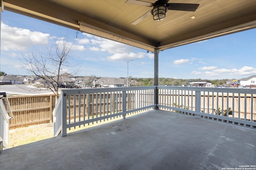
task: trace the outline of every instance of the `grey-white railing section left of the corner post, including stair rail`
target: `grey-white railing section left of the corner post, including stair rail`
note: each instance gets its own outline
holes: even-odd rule
[[[53,111],[54,136],[67,129],[152,109],[156,86],[62,90]],[[65,109],[66,108],[66,109]]]

